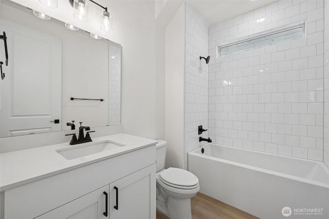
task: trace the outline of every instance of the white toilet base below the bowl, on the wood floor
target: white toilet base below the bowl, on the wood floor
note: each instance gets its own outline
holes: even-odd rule
[[[168,217],[170,219],[191,219],[191,200],[168,198]]]

